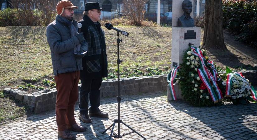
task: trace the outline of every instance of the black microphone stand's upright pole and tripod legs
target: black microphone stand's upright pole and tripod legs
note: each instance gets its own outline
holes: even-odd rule
[[[119,39],[119,32],[117,32],[117,52],[118,52],[118,59],[117,59],[117,64],[118,64],[118,97],[117,97],[117,101],[118,101],[118,119],[114,119],[113,120],[113,124],[111,126],[109,126],[107,129],[105,129],[103,133],[105,133],[107,130],[110,130],[111,131],[111,134],[110,134],[110,137],[109,137],[109,140],[111,140],[112,137],[114,138],[122,138],[123,136],[125,135],[128,135],[128,134],[131,134],[131,133],[136,133],[138,134],[140,137],[146,139],[145,137],[143,137],[142,135],[140,135],[140,133],[136,132],[134,129],[132,129],[131,127],[129,127],[128,125],[126,125],[124,122],[122,122],[122,120],[120,119],[120,101],[121,101],[121,97],[120,97],[120,63],[122,63],[122,60],[120,60],[120,47],[119,47],[119,44],[120,42],[122,42],[121,39]],[[114,130],[114,126],[115,124],[118,123],[118,134],[116,134],[115,132],[113,132]],[[129,132],[129,133],[126,133],[126,134],[123,134],[121,135],[120,134],[120,123],[124,124],[126,127],[130,128],[132,130],[132,132]],[[112,130],[110,129],[112,127]],[[114,136],[112,136],[112,134]]]

